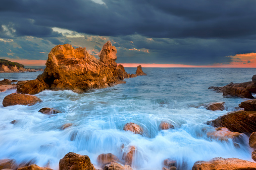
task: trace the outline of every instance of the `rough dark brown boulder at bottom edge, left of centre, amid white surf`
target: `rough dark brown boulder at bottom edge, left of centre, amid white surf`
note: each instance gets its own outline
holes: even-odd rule
[[[89,156],[67,153],[59,162],[59,170],[95,170]]]

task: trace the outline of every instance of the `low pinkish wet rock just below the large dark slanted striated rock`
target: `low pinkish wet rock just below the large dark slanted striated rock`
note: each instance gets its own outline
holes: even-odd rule
[[[207,136],[212,139],[227,141],[228,139],[236,138],[240,135],[240,133],[231,132],[228,130],[228,128],[225,128],[225,127],[215,128],[215,130],[216,131],[214,131],[214,132],[208,132]]]

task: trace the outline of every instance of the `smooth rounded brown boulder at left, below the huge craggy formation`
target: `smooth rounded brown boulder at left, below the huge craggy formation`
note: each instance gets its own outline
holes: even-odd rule
[[[40,102],[41,100],[32,95],[23,95],[12,93],[6,96],[3,100],[3,106],[13,106],[13,105],[34,105],[36,102]]]

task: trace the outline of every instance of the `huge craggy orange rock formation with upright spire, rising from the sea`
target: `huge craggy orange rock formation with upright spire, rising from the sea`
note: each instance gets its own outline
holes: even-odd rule
[[[17,91],[31,95],[46,89],[82,93],[124,83],[122,80],[128,76],[122,66],[117,68],[116,53],[116,47],[110,41],[104,44],[99,59],[90,55],[86,48],[57,45],[48,54],[44,72],[17,88]]]

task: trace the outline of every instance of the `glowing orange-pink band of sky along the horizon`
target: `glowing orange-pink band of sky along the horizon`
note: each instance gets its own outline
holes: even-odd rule
[[[256,68],[256,53],[237,54],[234,56],[228,56],[231,58],[229,63],[216,63],[212,65],[186,65],[186,64],[158,64],[158,63],[118,63],[124,67],[195,67],[195,68]],[[25,66],[45,66],[46,60],[28,60],[28,59],[12,59],[5,58],[7,60],[21,63]]]

